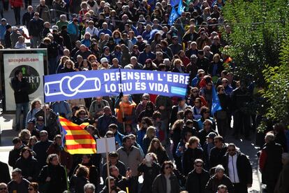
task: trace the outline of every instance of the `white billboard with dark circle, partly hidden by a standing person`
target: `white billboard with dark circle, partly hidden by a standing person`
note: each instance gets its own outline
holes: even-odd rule
[[[21,50],[20,50],[21,51]],[[38,50],[39,51],[39,50]],[[11,80],[16,70],[20,70],[23,78],[29,83],[29,101],[40,99],[43,101],[43,76],[46,73],[46,50],[37,50],[27,53],[22,52],[3,52],[2,85],[4,86],[5,111],[16,109],[14,91]],[[3,89],[3,87],[2,87]]]

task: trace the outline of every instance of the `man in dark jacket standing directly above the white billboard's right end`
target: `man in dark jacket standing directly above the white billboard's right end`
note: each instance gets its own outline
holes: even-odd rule
[[[44,22],[43,20],[39,17],[39,13],[36,12],[34,13],[34,17],[32,20],[29,22],[29,36],[30,39],[33,40],[33,45],[31,46],[32,48],[37,48],[38,45],[41,43],[42,35],[41,32],[43,31],[44,27]]]

